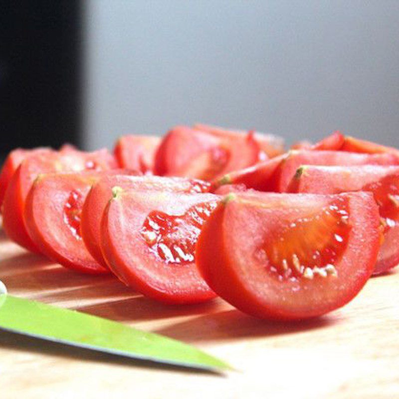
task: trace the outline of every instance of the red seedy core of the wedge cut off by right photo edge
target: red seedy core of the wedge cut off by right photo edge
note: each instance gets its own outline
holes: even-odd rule
[[[399,223],[399,178],[389,175],[385,178],[368,184],[362,188],[363,191],[372,191],[374,199],[380,207],[381,222],[384,233]]]

